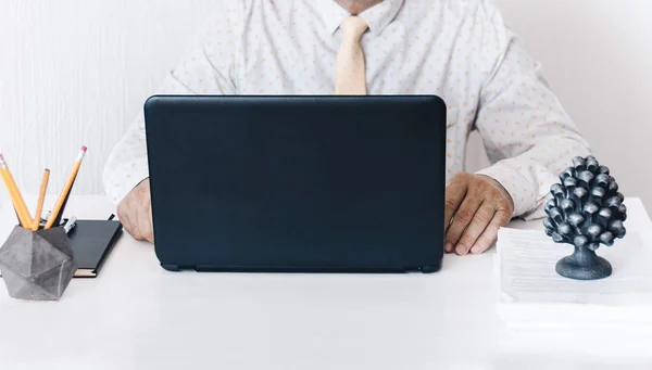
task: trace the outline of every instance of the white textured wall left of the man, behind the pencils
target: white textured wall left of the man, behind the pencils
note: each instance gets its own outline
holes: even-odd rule
[[[86,144],[75,193],[103,192],[109,152],[212,3],[0,0],[0,150],[22,189],[49,167],[57,194]]]

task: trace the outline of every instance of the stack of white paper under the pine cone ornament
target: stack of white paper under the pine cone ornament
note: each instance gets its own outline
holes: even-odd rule
[[[635,230],[601,246],[613,267],[610,278],[577,281],[555,271],[573,246],[543,231],[499,231],[496,271],[502,339],[511,345],[581,348],[597,354],[652,352],[652,222],[638,213]],[[644,219],[643,219],[644,217]]]

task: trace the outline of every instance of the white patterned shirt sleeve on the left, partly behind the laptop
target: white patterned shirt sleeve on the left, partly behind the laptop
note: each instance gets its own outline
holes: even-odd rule
[[[226,5],[228,1],[223,3],[214,22],[198,33],[186,55],[165,76],[156,94],[236,93],[237,10]],[[109,155],[102,177],[104,190],[114,204],[149,177],[142,111]]]

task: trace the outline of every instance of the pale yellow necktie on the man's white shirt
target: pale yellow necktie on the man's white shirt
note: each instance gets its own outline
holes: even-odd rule
[[[367,93],[366,76],[360,39],[368,26],[362,18],[351,15],[342,22],[340,28],[343,36],[337,54],[335,93],[338,95],[364,95]]]

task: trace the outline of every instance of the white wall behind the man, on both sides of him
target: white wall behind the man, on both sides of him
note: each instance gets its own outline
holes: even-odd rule
[[[652,0],[494,1],[598,158],[652,209]],[[102,192],[111,148],[212,3],[0,0],[0,150],[23,189],[36,192],[49,167],[58,192],[87,144],[75,193]],[[476,150],[469,164],[484,161]]]

